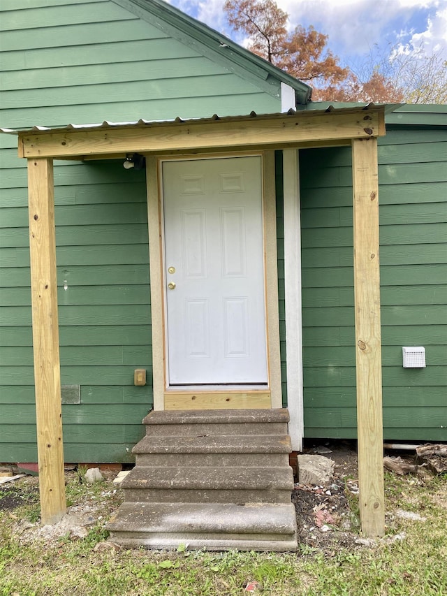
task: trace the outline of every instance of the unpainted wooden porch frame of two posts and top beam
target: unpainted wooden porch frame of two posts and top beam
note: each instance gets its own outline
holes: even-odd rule
[[[43,523],[56,523],[66,512],[53,160],[114,159],[135,152],[158,157],[277,149],[291,150],[285,160],[291,163],[295,150],[302,147],[351,145],[360,521],[365,535],[383,535],[377,137],[385,134],[384,115],[384,106],[367,106],[150,124],[104,123],[18,133],[19,156],[28,160],[31,307]],[[293,172],[296,174],[296,167],[284,169],[285,190],[296,192],[297,184],[290,180]]]

